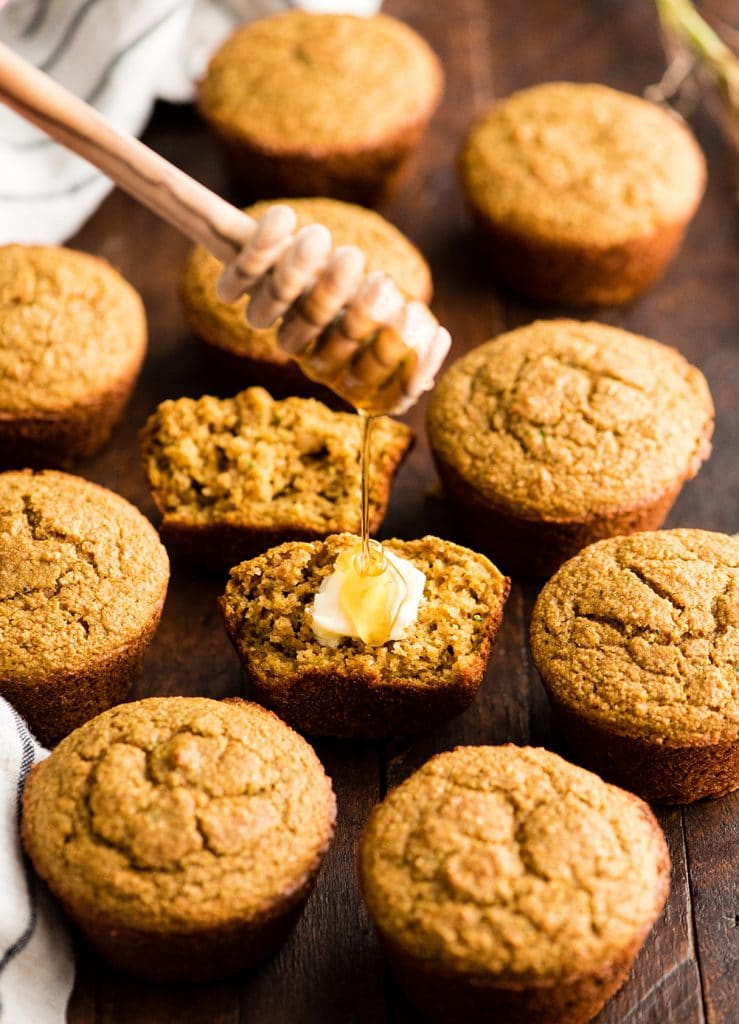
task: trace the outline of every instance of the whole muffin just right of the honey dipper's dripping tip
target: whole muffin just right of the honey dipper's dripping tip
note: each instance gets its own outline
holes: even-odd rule
[[[655,529],[710,454],[713,403],[673,348],[603,324],[538,321],[441,377],[428,430],[473,544],[550,575],[601,538]]]

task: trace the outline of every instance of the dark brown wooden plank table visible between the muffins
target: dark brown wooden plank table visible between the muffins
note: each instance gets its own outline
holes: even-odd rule
[[[713,2],[736,20],[736,0]],[[487,280],[469,236],[453,163],[472,115],[495,96],[552,79],[600,81],[641,93],[663,56],[647,0],[389,0],[431,42],[447,91],[404,186],[383,212],[423,249],[435,309],[460,354],[536,316]],[[665,279],[625,309],[600,318],[677,345],[704,372],[716,403],[714,454],[680,498],[669,525],[739,529],[737,204],[731,161],[716,128],[697,112],[709,184],[686,245]],[[147,141],[216,189],[225,183],[211,140],[189,109],[159,109]],[[221,391],[184,325],[176,285],[186,242],[131,200],[114,194],[74,245],[105,256],[142,292],[150,351],[128,418],[112,444],[80,472],[154,514],[139,470],[136,433],[164,398]],[[386,536],[461,538],[434,497],[423,403],[409,422],[419,443],[401,471]],[[223,581],[175,561],[162,627],[135,696],[240,692],[240,670],[215,606]],[[527,646],[536,587],[515,583],[485,683],[473,706],[443,728],[407,742],[316,742],[334,780],[339,827],[315,893],[296,931],[248,977],[191,988],[134,981],[79,950],[71,1024],[411,1024],[417,1015],[388,976],[354,878],[357,836],[370,809],[437,751],[457,743],[545,744],[559,750]],[[671,894],[637,966],[600,1024],[737,1024],[739,1021],[739,794],[658,809],[672,857]],[[24,1022],[33,1024],[33,1022]]]

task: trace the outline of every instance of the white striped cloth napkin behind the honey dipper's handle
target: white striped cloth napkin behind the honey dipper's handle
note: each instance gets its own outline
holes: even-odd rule
[[[284,10],[375,13],[382,0],[0,0],[0,39],[134,135],[155,100],[192,98],[241,22]],[[0,244],[55,244],[113,187],[0,104]]]

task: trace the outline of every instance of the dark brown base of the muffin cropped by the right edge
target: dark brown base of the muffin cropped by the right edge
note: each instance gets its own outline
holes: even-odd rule
[[[574,758],[606,781],[658,804],[692,804],[739,788],[739,738],[689,745],[617,733],[564,703],[542,682]]]

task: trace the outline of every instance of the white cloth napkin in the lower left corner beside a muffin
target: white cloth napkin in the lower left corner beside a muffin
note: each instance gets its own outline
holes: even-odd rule
[[[0,1024],[62,1024],[72,944],[20,849],[20,795],[47,752],[0,697]]]

